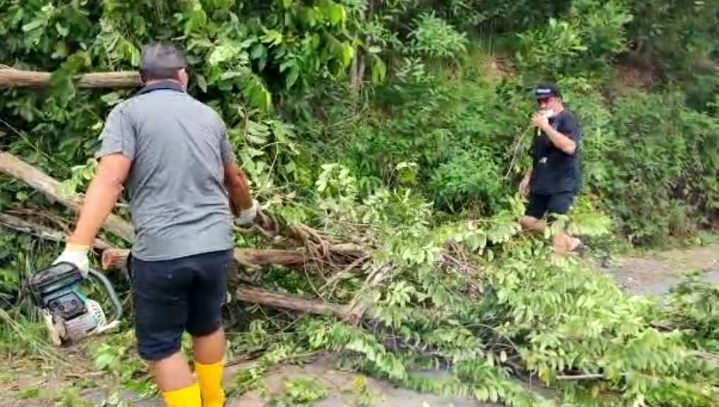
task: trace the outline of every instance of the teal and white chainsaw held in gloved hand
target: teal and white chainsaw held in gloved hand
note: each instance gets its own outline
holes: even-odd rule
[[[80,293],[80,285],[88,278],[99,283],[110,297],[115,308],[111,321],[100,303]],[[83,275],[75,265],[60,262],[32,275],[28,288],[56,346],[115,329],[122,319],[122,304],[115,289],[110,280],[96,270],[88,270],[88,274]]]

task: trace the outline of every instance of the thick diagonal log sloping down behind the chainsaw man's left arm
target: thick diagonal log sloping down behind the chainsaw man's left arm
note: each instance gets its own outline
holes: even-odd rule
[[[0,72],[2,72],[2,70],[0,70]],[[27,183],[27,185],[36,191],[44,194],[50,201],[59,202],[75,211],[75,213],[79,213],[82,208],[82,199],[80,196],[63,196],[63,194],[60,193],[60,183],[57,180],[32,165],[25,163],[9,152],[0,152],[0,172]],[[102,226],[107,232],[111,232],[127,242],[131,243],[134,239],[132,225],[117,215],[111,214],[107,216]]]

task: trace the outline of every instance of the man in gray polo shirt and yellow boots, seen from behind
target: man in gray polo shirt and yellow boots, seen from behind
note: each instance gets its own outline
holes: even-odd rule
[[[136,235],[129,266],[139,355],[168,406],[219,407],[232,216],[251,224],[257,201],[221,117],[186,93],[182,53],[169,43],[147,45],[140,73],[145,87],[107,117],[98,172],[56,262],[88,269],[91,242],[125,186]],[[180,352],[183,331],[193,337],[199,383]]]

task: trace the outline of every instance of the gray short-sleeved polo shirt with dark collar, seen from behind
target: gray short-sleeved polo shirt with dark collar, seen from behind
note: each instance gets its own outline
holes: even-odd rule
[[[107,116],[97,157],[132,160],[129,192],[139,260],[234,246],[224,163],[234,160],[219,114],[171,81],[146,86]]]

